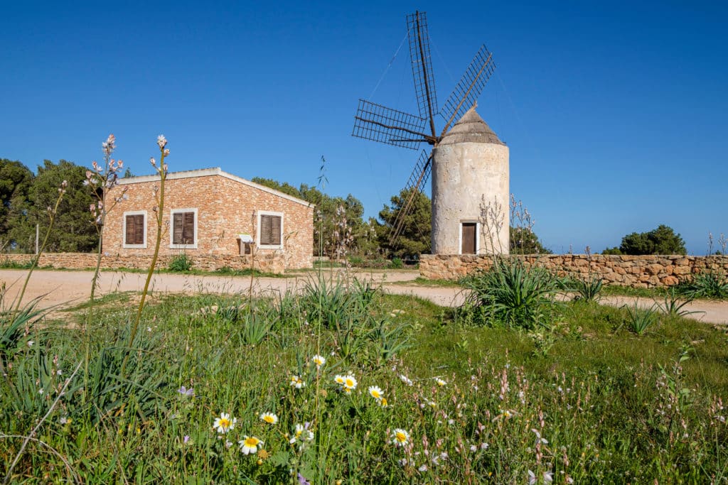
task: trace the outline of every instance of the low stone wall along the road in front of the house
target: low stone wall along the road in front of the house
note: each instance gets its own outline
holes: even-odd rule
[[[157,268],[164,269],[170,264],[176,254],[160,254],[157,260]],[[1,254],[1,262],[26,263],[33,260],[33,254]],[[109,254],[101,257],[101,268],[118,269],[132,268],[146,270],[151,265],[151,254]],[[192,268],[205,271],[214,271],[220,268],[231,268],[243,270],[253,268],[264,273],[283,273],[285,260],[282,254],[268,253],[256,254],[252,260],[248,256],[234,254],[195,254],[190,255]],[[79,252],[50,252],[41,254],[38,262],[39,267],[66,268],[83,270],[96,267],[96,254]]]

